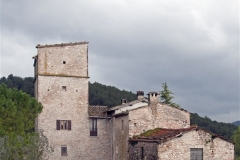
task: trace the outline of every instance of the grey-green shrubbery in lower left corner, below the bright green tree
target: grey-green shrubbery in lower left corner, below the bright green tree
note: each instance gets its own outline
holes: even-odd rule
[[[53,148],[49,146],[48,139],[39,133],[16,135],[11,133],[0,137],[0,159],[48,159]]]

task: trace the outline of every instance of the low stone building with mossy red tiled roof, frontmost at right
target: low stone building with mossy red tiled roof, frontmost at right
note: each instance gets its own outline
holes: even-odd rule
[[[157,128],[129,140],[129,159],[233,160],[234,145],[197,126]]]

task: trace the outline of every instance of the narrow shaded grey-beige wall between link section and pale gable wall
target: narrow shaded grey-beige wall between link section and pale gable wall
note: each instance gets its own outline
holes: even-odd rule
[[[113,117],[113,160],[128,159],[128,115]]]

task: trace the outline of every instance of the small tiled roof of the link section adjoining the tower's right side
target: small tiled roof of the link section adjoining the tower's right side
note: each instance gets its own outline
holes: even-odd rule
[[[107,106],[88,106],[88,114],[91,117],[107,117]]]

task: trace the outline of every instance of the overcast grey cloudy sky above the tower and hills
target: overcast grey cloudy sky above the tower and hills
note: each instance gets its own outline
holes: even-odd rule
[[[238,0],[1,0],[0,76],[33,76],[37,44],[89,42],[91,82],[162,90],[240,120]]]

